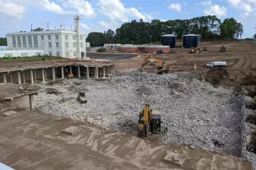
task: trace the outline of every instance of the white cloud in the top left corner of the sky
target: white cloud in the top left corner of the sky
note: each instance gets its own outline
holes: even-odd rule
[[[21,4],[16,4],[15,2],[0,0],[0,4],[0,13],[2,13],[2,16],[22,19],[24,13],[27,11],[27,7]]]

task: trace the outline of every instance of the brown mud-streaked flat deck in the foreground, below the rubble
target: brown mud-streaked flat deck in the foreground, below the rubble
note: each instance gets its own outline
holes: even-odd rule
[[[62,134],[69,126],[79,132]],[[154,143],[26,110],[0,116],[0,133],[0,161],[15,169],[252,169],[230,155]],[[181,152],[182,165],[163,161],[168,152]]]

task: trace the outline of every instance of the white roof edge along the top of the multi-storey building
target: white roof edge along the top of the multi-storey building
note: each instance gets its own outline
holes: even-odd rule
[[[49,35],[49,34],[74,34],[76,35],[76,32],[68,31],[68,30],[49,30],[49,31],[43,31],[43,32],[9,32],[6,33],[6,35]],[[81,33],[80,35],[85,35],[85,33]]]

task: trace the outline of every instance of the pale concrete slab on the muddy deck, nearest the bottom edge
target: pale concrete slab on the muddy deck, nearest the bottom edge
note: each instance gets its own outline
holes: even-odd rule
[[[179,168],[181,168],[183,163],[187,159],[187,155],[188,155],[188,148],[183,147],[180,150],[167,151],[167,154],[163,158],[163,161],[172,163],[172,165],[176,165]]]

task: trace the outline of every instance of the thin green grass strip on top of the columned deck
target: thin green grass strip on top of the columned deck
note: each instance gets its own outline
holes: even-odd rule
[[[67,59],[60,56],[24,56],[24,57],[3,57],[0,58],[0,62],[3,61],[45,61],[45,60],[61,60]]]

